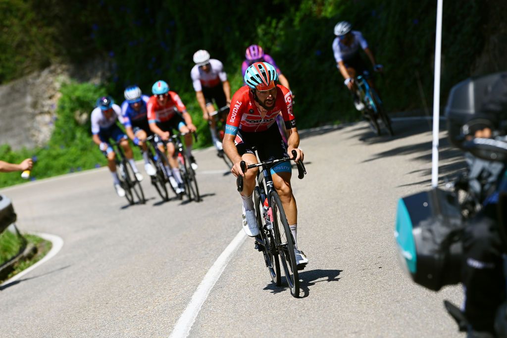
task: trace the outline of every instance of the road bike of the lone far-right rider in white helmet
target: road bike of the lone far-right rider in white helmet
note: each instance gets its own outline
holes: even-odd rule
[[[391,126],[391,119],[387,115],[387,112],[384,110],[382,100],[380,100],[377,91],[373,89],[368,83],[368,77],[369,73],[364,72],[363,75],[359,75],[356,78],[359,98],[365,104],[365,110],[363,111],[363,114],[377,135],[380,136],[382,134],[379,124],[380,119],[385,129],[387,129],[389,135],[394,136],[394,132]]]

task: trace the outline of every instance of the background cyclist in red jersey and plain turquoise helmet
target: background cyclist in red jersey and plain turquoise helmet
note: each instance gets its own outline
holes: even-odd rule
[[[174,144],[169,141],[169,136],[172,129],[176,129],[181,133],[188,133],[185,135],[185,150],[192,168],[196,170],[197,163],[192,155],[192,134],[190,134],[196,131],[196,127],[178,94],[169,91],[169,86],[165,81],[155,82],[152,92],[154,95],[150,97],[147,104],[148,124],[151,131],[159,135],[162,141],[166,143],[169,166],[178,184],[176,193],[183,194],[185,191],[183,180],[179,174],[178,162],[173,157],[175,149]]]

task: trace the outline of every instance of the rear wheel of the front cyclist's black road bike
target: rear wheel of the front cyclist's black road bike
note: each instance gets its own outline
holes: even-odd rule
[[[264,262],[268,268],[271,280],[276,286],[280,286],[280,261],[278,259],[278,254],[273,248],[274,240],[272,232],[266,229],[266,222],[264,221],[263,213],[264,201],[261,201],[261,190],[258,186],[256,186],[253,191],[253,203],[255,205],[255,213],[257,215],[257,224],[259,224],[259,236],[264,243],[270,243],[270,250],[266,246],[260,245],[262,247]]]

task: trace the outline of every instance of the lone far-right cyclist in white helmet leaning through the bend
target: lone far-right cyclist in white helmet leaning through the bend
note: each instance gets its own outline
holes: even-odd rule
[[[365,105],[355,93],[357,88],[355,86],[354,79],[356,75],[361,75],[368,69],[359,55],[359,48],[365,51],[365,54],[370,59],[375,71],[381,72],[383,67],[381,64],[376,63],[375,56],[368,47],[368,42],[363,37],[363,34],[361,34],[360,31],[352,30],[352,25],[349,22],[338,22],[334,31],[336,38],[333,41],[333,54],[335,56],[337,67],[345,79],[345,85],[354,97],[354,105],[356,109],[363,110]],[[373,86],[371,79],[368,79],[368,83]]]

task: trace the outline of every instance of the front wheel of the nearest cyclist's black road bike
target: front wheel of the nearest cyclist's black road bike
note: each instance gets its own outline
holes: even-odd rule
[[[285,211],[280,197],[276,191],[272,191],[269,195],[270,207],[273,213],[273,232],[275,239],[275,246],[280,255],[280,262],[283,267],[285,279],[287,280],[291,294],[299,297],[299,274],[298,266],[296,264],[296,254],[294,252],[294,239],[292,237],[291,229],[288,226]]]

